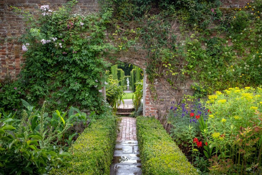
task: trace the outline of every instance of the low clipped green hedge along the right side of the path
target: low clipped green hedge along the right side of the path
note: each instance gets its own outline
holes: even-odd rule
[[[198,174],[155,118],[137,117],[137,138],[144,175]]]

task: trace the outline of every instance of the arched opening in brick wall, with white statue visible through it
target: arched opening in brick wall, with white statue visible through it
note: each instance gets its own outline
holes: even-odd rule
[[[121,62],[108,69],[106,100],[117,115],[144,115],[144,70]]]

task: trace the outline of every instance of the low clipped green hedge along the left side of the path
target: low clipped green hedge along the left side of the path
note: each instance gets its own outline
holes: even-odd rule
[[[116,117],[96,120],[72,145],[71,167],[53,169],[50,174],[109,174],[116,142]]]

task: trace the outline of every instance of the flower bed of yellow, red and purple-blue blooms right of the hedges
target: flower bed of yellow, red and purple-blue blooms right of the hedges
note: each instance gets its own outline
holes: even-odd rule
[[[205,105],[198,101],[203,111],[175,107],[171,133],[203,173],[261,174],[261,95],[261,88],[236,87],[208,96]]]

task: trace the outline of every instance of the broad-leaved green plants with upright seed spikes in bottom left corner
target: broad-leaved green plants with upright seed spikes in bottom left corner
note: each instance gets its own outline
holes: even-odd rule
[[[59,125],[50,127],[47,113],[44,113],[46,102],[41,111],[26,106],[29,110],[23,112],[19,123],[15,114],[7,115],[3,110],[0,113],[1,174],[43,174],[52,167],[70,166],[66,163],[71,159],[70,153],[55,144],[70,127],[64,115],[57,120]],[[64,126],[60,129],[62,121]]]

